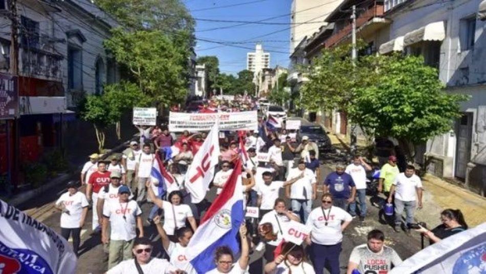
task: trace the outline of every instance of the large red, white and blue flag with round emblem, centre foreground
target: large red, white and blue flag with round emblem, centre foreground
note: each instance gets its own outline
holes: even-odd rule
[[[235,166],[240,164],[238,159]],[[236,239],[244,220],[241,168],[234,168],[223,191],[211,204],[187,245],[186,256],[197,273],[216,268],[214,253],[220,246],[228,246],[233,254],[238,254]]]

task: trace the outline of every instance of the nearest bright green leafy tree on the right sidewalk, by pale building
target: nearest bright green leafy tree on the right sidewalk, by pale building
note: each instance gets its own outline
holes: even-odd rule
[[[444,92],[435,68],[422,57],[369,57],[377,64],[376,80],[355,87],[349,118],[374,136],[399,140],[410,161],[414,146],[451,130],[467,96]]]

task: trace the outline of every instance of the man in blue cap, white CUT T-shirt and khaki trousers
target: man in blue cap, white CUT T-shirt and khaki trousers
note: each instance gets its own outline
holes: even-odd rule
[[[130,189],[126,185],[118,188],[118,203],[106,203],[103,206],[103,226],[101,241],[109,244],[108,269],[118,263],[131,259],[131,248],[137,237],[143,237],[142,210],[134,200],[129,200]],[[111,233],[108,240],[107,229],[110,224]]]

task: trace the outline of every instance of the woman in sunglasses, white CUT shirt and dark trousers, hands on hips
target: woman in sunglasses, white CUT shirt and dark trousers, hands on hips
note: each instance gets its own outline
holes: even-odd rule
[[[351,220],[349,213],[333,206],[333,195],[330,193],[322,195],[321,206],[312,210],[306,223],[307,226],[312,227],[311,236],[306,238],[306,242],[311,245],[311,260],[316,273],[322,273],[327,261],[330,274],[339,274],[342,231]]]

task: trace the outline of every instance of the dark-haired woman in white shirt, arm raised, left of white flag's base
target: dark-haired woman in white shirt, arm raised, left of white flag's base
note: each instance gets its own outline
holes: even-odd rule
[[[150,182],[147,183],[148,196],[154,204],[164,209],[164,230],[167,232],[172,241],[177,241],[174,236],[176,229],[186,226],[186,220],[189,221],[193,231],[196,231],[197,224],[192,210],[187,204],[182,204],[182,193],[173,191],[169,194],[168,201],[157,198],[153,193]]]

